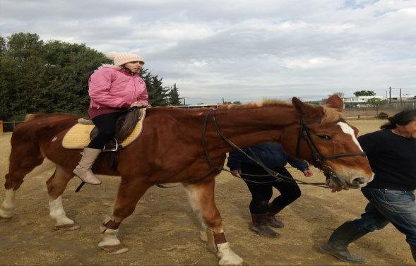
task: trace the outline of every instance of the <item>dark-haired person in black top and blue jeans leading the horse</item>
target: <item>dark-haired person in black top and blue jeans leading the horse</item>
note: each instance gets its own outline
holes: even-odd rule
[[[364,213],[335,229],[321,246],[343,261],[364,262],[351,255],[347,246],[390,222],[406,235],[416,261],[416,109],[401,111],[388,120],[381,131],[358,138],[374,172],[374,180],[361,190],[369,200]]]

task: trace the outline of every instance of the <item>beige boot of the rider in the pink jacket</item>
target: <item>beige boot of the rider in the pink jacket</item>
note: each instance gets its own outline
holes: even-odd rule
[[[97,159],[98,155],[100,155],[100,152],[100,149],[85,147],[82,153],[83,157],[81,157],[80,162],[78,162],[78,165],[75,169],[73,169],[73,174],[76,174],[76,176],[78,176],[85,183],[100,185],[101,180],[97,179],[97,176],[95,176],[93,171],[91,171],[91,167],[93,167],[95,159]]]

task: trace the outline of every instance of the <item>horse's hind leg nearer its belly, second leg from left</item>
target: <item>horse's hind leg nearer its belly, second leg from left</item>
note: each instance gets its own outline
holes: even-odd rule
[[[57,222],[55,229],[76,230],[80,228],[73,220],[66,217],[62,206],[62,193],[72,178],[72,171],[57,165],[54,174],[46,181],[49,195],[49,217]]]

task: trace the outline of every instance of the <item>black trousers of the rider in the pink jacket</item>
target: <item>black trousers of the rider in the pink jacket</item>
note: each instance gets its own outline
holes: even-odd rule
[[[121,114],[121,112],[117,112],[95,116],[92,120],[94,125],[98,128],[98,134],[91,140],[88,147],[92,149],[102,149],[109,140],[112,140],[116,134],[117,119]]]

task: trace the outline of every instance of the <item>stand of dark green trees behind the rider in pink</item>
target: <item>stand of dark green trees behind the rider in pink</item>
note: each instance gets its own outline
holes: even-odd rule
[[[108,63],[104,54],[85,44],[44,43],[34,33],[0,36],[0,120],[21,121],[25,114],[40,112],[85,114],[90,102],[88,78]],[[150,103],[168,105],[162,78],[148,70],[142,77]]]

